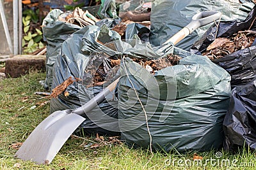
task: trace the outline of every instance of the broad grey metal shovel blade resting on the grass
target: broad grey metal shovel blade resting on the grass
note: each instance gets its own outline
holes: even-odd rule
[[[15,156],[36,164],[50,164],[69,136],[85,120],[70,110],[55,111],[24,141]]]

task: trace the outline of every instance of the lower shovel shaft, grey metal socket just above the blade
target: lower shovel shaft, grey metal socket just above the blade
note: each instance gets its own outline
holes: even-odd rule
[[[119,79],[120,78],[113,81],[113,83],[108,85],[108,87],[106,87],[104,90],[102,90],[102,92],[100,92],[95,97],[90,99],[90,101],[88,101],[83,106],[77,108],[76,110],[73,110],[72,113],[76,113],[77,115],[83,115],[84,113],[88,113],[88,111],[93,110],[93,108],[95,108],[99,103],[102,103],[102,101],[104,101],[105,96],[107,96],[108,94],[113,92],[113,90],[115,90]]]

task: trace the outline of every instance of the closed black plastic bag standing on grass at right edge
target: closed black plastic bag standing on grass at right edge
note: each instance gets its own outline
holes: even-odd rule
[[[232,90],[223,129],[226,149],[244,145],[256,149],[256,78]]]

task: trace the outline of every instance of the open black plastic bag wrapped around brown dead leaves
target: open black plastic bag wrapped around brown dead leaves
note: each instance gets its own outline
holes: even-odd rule
[[[214,41],[215,38],[228,38],[238,31],[256,30],[256,6],[248,14],[243,21],[233,20],[230,22],[220,22],[218,29],[216,25],[212,25],[204,36],[192,46],[191,52],[202,54],[206,48]],[[218,30],[218,32],[217,32]],[[216,35],[217,32],[217,35]],[[213,59],[214,63],[223,67],[231,76],[232,89],[237,85],[246,85],[256,77],[256,46],[255,42],[252,46],[238,50],[234,53],[223,56],[220,59]]]

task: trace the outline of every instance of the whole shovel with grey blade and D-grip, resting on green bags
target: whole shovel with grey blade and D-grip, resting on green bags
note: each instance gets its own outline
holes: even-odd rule
[[[220,16],[221,13],[218,11],[197,13],[186,27],[164,44],[172,42],[175,45],[198,27],[210,24],[214,20],[218,20]],[[76,110],[55,111],[49,115],[31,132],[15,156],[22,160],[31,160],[37,164],[50,164],[69,136],[84,122],[85,118],[81,115],[89,114],[95,106],[105,99],[105,96],[113,92],[118,81],[119,78]]]

